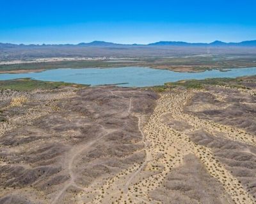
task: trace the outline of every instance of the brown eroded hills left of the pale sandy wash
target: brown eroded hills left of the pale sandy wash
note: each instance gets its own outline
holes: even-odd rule
[[[16,95],[1,104],[11,128],[0,138],[0,203],[101,202],[106,180],[143,163],[142,127],[154,92],[95,87]]]

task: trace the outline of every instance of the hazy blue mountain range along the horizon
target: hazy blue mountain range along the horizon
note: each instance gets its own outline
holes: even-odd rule
[[[61,44],[61,45],[24,45],[24,44],[12,44],[12,43],[0,43],[0,48],[15,48],[15,47],[61,47],[61,46],[78,46],[78,47],[120,47],[120,46],[179,46],[179,47],[187,47],[187,46],[194,46],[194,47],[202,47],[202,46],[209,46],[209,47],[227,47],[227,46],[242,46],[242,47],[256,47],[256,40],[250,41],[241,41],[239,43],[225,43],[223,41],[213,41],[212,43],[186,43],[183,41],[159,41],[156,43],[150,43],[147,45],[140,45],[140,44],[118,44],[118,43],[111,43],[106,41],[92,41],[91,43],[79,43],[77,45],[74,44]]]

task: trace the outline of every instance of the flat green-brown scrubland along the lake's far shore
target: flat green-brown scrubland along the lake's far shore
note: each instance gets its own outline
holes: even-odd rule
[[[113,51],[115,49],[111,49]],[[122,50],[123,51],[123,50]],[[256,66],[255,54],[218,54],[218,55],[196,55],[189,51],[188,54],[175,54],[173,50],[157,50],[156,55],[167,52],[164,54],[166,57],[153,57],[151,51],[147,55],[140,56],[139,48],[134,50],[125,50],[130,55],[120,55],[120,49],[115,50],[116,60],[108,59],[113,57],[108,55],[108,48],[106,50],[100,50],[95,56],[107,57],[107,59],[101,60],[76,60],[76,61],[56,61],[56,62],[35,62],[30,64],[2,64],[0,65],[0,71],[17,71],[17,70],[36,70],[36,69],[56,69],[56,68],[110,68],[110,67],[124,67],[124,66],[148,66],[157,69],[170,69],[173,71],[205,71],[211,69],[223,68],[241,68],[241,67],[253,67]],[[60,51],[61,52],[61,51]],[[92,52],[92,50],[88,51]],[[143,49],[143,52],[145,50]],[[136,53],[136,54],[134,54]],[[168,56],[169,53],[169,56]],[[238,52],[239,53],[239,52]],[[34,53],[33,53],[34,54]],[[74,57],[74,55],[72,55]],[[78,55],[83,56],[84,55]],[[1,56],[0,56],[1,57]],[[49,57],[51,55],[49,54]],[[61,57],[61,55],[60,55]],[[90,55],[91,57],[91,55]],[[120,57],[121,60],[118,60]],[[126,57],[122,58],[122,57]],[[40,58],[40,56],[38,56]],[[29,60],[35,59],[34,57],[28,58]],[[124,59],[124,60],[122,60]],[[7,59],[4,59],[7,60]],[[10,59],[13,60],[13,59]],[[26,61],[26,59],[23,59]]]

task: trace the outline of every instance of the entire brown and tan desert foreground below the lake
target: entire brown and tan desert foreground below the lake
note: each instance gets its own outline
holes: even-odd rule
[[[256,203],[256,90],[1,91],[0,203]]]

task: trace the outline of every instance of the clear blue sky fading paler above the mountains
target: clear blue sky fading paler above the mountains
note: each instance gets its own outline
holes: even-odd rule
[[[256,40],[255,0],[0,0],[0,42]]]

